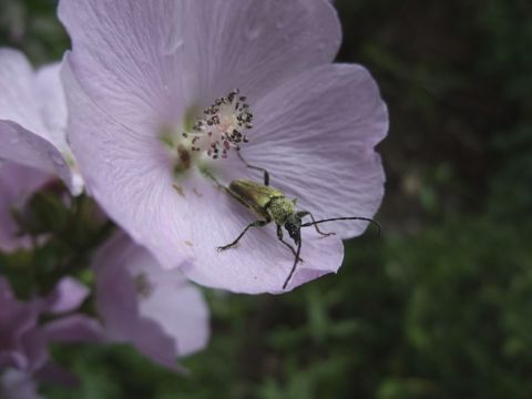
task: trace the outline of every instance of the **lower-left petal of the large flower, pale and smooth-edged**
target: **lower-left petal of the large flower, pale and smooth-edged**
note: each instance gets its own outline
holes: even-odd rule
[[[154,254],[164,254],[176,267],[188,260],[192,249],[184,238],[167,245],[153,235],[162,229],[168,237],[183,235],[176,209],[191,215],[188,202],[175,193],[172,163],[158,140],[144,137],[109,117],[86,96],[66,62],[63,81],[69,88],[70,142],[86,186],[111,218],[127,226],[127,233]],[[112,137],[112,140],[110,140]],[[160,203],[161,198],[167,198]]]

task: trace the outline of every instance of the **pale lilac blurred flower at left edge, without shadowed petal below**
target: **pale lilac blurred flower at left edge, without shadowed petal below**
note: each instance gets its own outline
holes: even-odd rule
[[[35,72],[21,52],[0,48],[0,160],[58,175],[79,194],[59,72],[59,63]]]

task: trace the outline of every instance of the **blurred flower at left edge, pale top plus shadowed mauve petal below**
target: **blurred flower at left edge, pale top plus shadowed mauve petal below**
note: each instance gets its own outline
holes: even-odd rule
[[[12,217],[45,183],[63,178],[82,190],[66,144],[66,103],[60,64],[33,71],[25,57],[0,49],[0,249],[29,245]]]

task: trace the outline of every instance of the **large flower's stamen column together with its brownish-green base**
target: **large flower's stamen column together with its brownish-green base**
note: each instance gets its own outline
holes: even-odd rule
[[[253,112],[246,101],[238,89],[233,90],[216,99],[200,117],[193,121],[185,117],[184,131],[176,137],[176,144],[171,135],[162,135],[163,143],[176,151],[177,173],[190,168],[201,155],[226,158],[231,150],[239,151],[241,145],[249,141],[246,132],[253,127]]]

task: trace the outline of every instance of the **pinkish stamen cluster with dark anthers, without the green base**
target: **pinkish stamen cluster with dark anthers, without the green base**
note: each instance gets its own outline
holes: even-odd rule
[[[206,153],[213,160],[226,158],[231,149],[239,151],[241,144],[248,142],[246,131],[253,127],[253,113],[246,100],[239,90],[216,99],[191,131],[182,133],[185,147]]]

